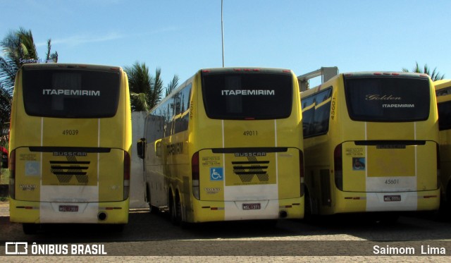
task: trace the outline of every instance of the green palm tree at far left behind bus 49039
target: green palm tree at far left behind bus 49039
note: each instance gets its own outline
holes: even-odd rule
[[[0,41],[2,54],[0,56],[0,128],[8,127],[11,115],[11,97],[14,90],[14,80],[20,66],[25,63],[58,62],[58,52],[51,53],[51,39],[47,40],[45,61],[39,59],[31,30],[20,27],[10,31]]]

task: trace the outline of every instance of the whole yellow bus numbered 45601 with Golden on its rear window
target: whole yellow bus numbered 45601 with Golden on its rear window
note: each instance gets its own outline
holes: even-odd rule
[[[306,214],[435,210],[438,115],[426,74],[340,73],[301,93]]]

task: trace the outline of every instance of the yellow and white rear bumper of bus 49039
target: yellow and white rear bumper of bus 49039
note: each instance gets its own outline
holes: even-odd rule
[[[10,220],[16,223],[127,224],[129,199],[121,202],[30,202],[10,199]],[[77,207],[63,212],[61,206]],[[103,219],[103,220],[102,220]]]

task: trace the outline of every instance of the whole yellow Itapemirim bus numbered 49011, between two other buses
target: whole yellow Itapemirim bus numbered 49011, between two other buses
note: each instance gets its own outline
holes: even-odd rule
[[[174,224],[304,215],[302,115],[294,73],[198,71],[152,109],[147,201]]]

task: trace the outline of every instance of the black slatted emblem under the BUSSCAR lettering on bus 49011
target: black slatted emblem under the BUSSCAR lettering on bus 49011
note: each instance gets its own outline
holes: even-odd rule
[[[240,155],[240,154],[247,153],[235,153],[235,157],[245,156],[247,157],[248,161],[232,161],[232,164],[233,164],[233,173],[235,173],[238,177],[240,177],[242,183],[250,183],[252,179],[254,179],[254,176],[257,176],[260,182],[269,181],[268,172],[266,171],[268,169],[269,161],[259,161],[257,160],[256,155],[252,155],[252,153],[249,153],[251,155]],[[266,156],[266,153],[254,153],[254,154],[264,154],[257,156]]]

